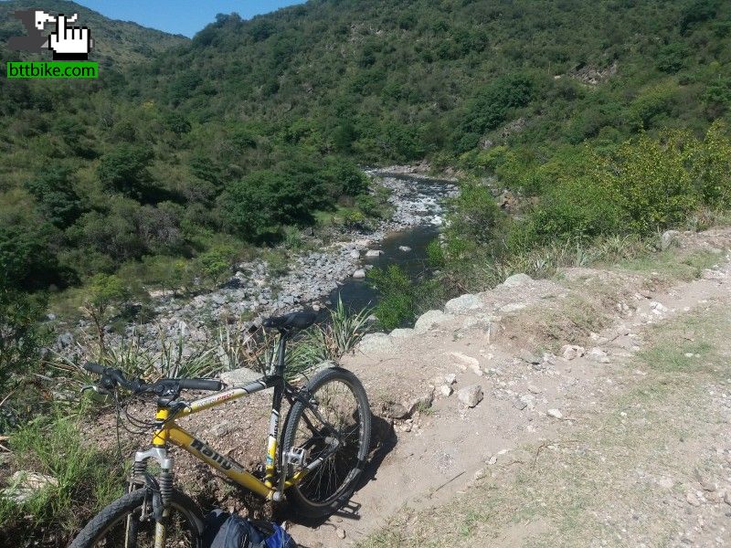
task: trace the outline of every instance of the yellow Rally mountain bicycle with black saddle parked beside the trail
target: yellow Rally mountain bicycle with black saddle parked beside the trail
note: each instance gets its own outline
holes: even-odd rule
[[[305,518],[321,518],[341,508],[350,499],[365,466],[370,444],[370,407],[365,389],[355,374],[339,366],[314,374],[303,386],[291,385],[284,377],[287,341],[292,332],[313,325],[312,312],[294,312],[270,318],[264,327],[279,334],[273,374],[244,386],[227,388],[211,379],[161,379],[148,384],[127,379],[120,370],[86,364],[101,374],[92,387],[116,393],[118,387],[132,394],[157,396],[152,447],[134,456],[128,492],[97,514],[71,543],[70,548],[91,546],[190,546],[201,548],[203,514],[190,497],[174,487],[174,461],[169,444],[182,448],[217,469],[239,486],[274,502],[286,500]],[[244,469],[178,426],[177,419],[193,415],[273,388],[269,436],[263,479]],[[183,390],[220,392],[186,403]],[[290,408],[280,428],[282,398]],[[159,473],[148,471],[154,460]]]

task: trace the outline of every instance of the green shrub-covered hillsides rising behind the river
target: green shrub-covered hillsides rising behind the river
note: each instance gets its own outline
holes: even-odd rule
[[[539,194],[567,147],[702,132],[731,104],[720,0],[315,0],[190,41],[45,7],[78,11],[113,67],[0,80],[0,281],[23,289],[225,263],[338,203],[376,214],[357,163],[426,157]]]

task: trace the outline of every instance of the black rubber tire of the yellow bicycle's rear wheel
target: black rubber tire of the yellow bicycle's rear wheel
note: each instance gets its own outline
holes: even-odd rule
[[[355,374],[343,369],[342,367],[330,367],[323,369],[323,371],[313,376],[311,381],[307,384],[306,390],[313,395],[315,400],[318,401],[318,411],[323,413],[324,395],[321,395],[318,398],[318,393],[322,393],[323,388],[327,385],[334,385],[335,383],[344,385],[350,391],[350,394],[353,396],[355,406],[357,407],[357,419],[359,421],[357,453],[352,454],[350,458],[348,458],[348,452],[353,453],[352,448],[349,448],[348,452],[341,454],[341,458],[348,459],[348,462],[342,464],[342,466],[347,468],[347,473],[344,475],[342,483],[339,486],[336,486],[337,489],[331,494],[319,497],[316,492],[313,493],[313,490],[319,490],[321,489],[321,486],[311,484],[313,481],[318,479],[318,474],[319,478],[323,479],[325,469],[329,469],[331,472],[338,471],[337,468],[339,468],[341,464],[339,462],[334,464],[334,458],[338,455],[340,449],[336,449],[333,455],[330,455],[327,459],[325,459],[323,464],[305,476],[299,484],[286,490],[287,501],[289,501],[292,510],[304,518],[314,519],[330,515],[334,511],[339,510],[345,502],[350,499],[355,491],[356,483],[360,478],[363,469],[365,469],[366,458],[370,450],[371,411],[370,406],[368,405],[368,397],[365,394],[365,388]],[[291,412],[287,417],[287,424],[282,438],[282,455],[289,451],[290,448],[298,447],[294,446],[294,443],[297,440],[298,427],[300,427],[302,417],[308,409],[309,407],[305,406],[302,402],[297,402],[291,407]],[[310,416],[309,418],[313,418],[314,415],[312,410],[310,410],[308,415]],[[324,418],[327,422],[330,422],[328,417]],[[339,428],[341,437],[344,437],[344,426],[340,425]],[[348,436],[354,437],[353,432],[351,432]],[[308,443],[312,442],[314,439],[315,437],[312,437]],[[345,443],[343,449],[348,448],[348,445],[348,443]],[[317,454],[310,455],[307,463],[312,462],[314,458],[317,458]],[[330,459],[329,462],[328,459]],[[307,463],[305,463],[305,466]],[[290,470],[290,472],[291,471],[292,470]],[[329,482],[330,479],[328,479],[328,485],[330,484]]]

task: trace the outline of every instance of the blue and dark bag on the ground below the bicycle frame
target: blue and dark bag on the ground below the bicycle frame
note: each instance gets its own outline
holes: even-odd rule
[[[297,548],[276,523],[251,521],[228,511],[211,511],[205,526],[204,548]]]

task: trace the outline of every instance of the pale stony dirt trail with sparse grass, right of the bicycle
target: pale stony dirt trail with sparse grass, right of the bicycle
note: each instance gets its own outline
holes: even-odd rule
[[[731,419],[731,373],[726,369],[718,378],[695,375],[684,380],[687,390],[676,391],[679,395],[673,392],[677,403],[673,398],[635,401],[635,396],[642,396],[638,386],[651,394],[667,392],[667,383],[673,385],[688,374],[681,367],[668,381],[664,365],[648,365],[648,356],[654,356],[658,364],[684,360],[690,367],[708,353],[722,356],[728,351],[728,331],[709,332],[703,318],[704,314],[713,317],[716,328],[731,328],[731,257],[725,251],[729,242],[731,231],[715,230],[685,235],[680,249],[630,268],[568,269],[553,281],[517,277],[493,291],[451,301],[447,314],[432,314],[432,321],[418,324],[421,332],[395,332],[365,342],[364,352],[344,365],[364,380],[375,411],[399,416],[404,408],[416,410],[408,419],[393,421],[391,437],[386,437],[372,467],[373,477],[355,494],[352,504],[317,528],[294,525],[292,534],[312,548],[361,541],[378,546],[439,545],[445,538],[464,545],[475,545],[475,541],[486,545],[485,538],[515,546],[654,546],[681,540],[683,545],[731,545],[731,526],[724,529],[715,515],[731,511],[723,501],[724,496],[731,498],[731,441],[721,436],[721,432],[727,434]],[[678,280],[693,278],[695,273],[700,278]],[[683,323],[686,320],[690,324]],[[658,340],[666,332],[674,333],[670,342],[687,342],[680,357],[663,353],[662,344],[670,342]],[[562,348],[566,343],[583,348]],[[450,379],[444,377],[450,374],[456,377],[455,394],[446,395]],[[465,406],[459,396],[470,385],[480,385],[484,395],[474,407]],[[425,401],[417,404],[419,399],[428,401],[432,392],[431,406]],[[724,413],[710,420],[713,406],[691,405],[694,398],[719,400],[716,406]],[[673,406],[688,415],[682,425],[673,423]],[[605,423],[609,416],[617,419],[616,424]],[[387,426],[382,419],[381,430],[387,432]],[[694,441],[670,442],[681,436],[678,431],[683,428],[691,428]],[[618,432],[621,441],[617,441]],[[648,444],[643,449],[645,439]],[[613,446],[606,455],[597,448],[614,443],[620,448]],[[629,445],[622,447],[623,443]],[[708,444],[717,453],[715,464],[701,462]],[[617,451],[625,458],[618,460]],[[564,458],[557,458],[562,452],[566,452]],[[700,493],[691,487],[693,479],[671,479],[673,465],[665,467],[665,476],[658,472],[678,452],[688,456],[685,464],[690,459],[705,469],[698,472],[699,477],[705,474],[705,487],[695,486]],[[545,470],[551,496],[543,492],[546,485],[540,474],[535,484],[523,483],[526,475],[535,476],[546,462],[553,466]],[[602,462],[607,463],[606,469]],[[575,477],[567,470],[575,467],[583,477],[584,466],[593,467],[591,474],[595,474],[588,492],[578,488],[573,492]],[[646,485],[646,497],[644,491],[637,491],[637,474],[641,485],[681,489],[681,501],[668,508],[683,519],[693,516],[694,523],[685,523],[690,518],[683,522],[675,513],[672,519],[670,515],[662,519],[668,508],[652,508],[656,493]],[[711,487],[712,477],[716,478],[713,494],[705,490]],[[626,491],[627,499],[636,501],[629,529],[602,521],[611,522],[611,505],[620,504],[607,498],[609,487]],[[514,499],[503,507],[493,506],[503,499],[494,496],[495,490],[513,493]],[[592,493],[606,498],[607,506],[595,507]],[[546,501],[538,501],[536,510],[536,498],[544,495]],[[570,541],[574,537],[567,523],[574,518],[588,520],[584,507],[611,534],[603,530],[596,536],[577,534],[576,539],[583,540]],[[529,508],[533,510],[524,510]],[[442,522],[447,515],[451,521]],[[696,534],[692,529],[699,527],[698,520],[705,529]],[[670,522],[677,531],[666,531]],[[391,532],[379,532],[389,523]],[[453,527],[441,538],[435,523]],[[705,532],[710,529],[709,536]],[[634,530],[635,536],[627,536]],[[546,535],[553,540],[542,544]]]

